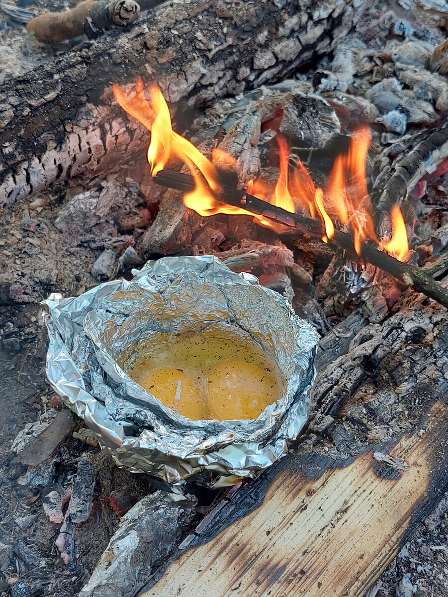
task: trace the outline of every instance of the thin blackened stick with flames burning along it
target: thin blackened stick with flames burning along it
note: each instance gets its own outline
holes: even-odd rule
[[[162,186],[171,189],[177,189],[184,193],[191,192],[196,188],[194,179],[189,174],[181,174],[172,170],[161,170],[155,176],[155,182]],[[325,230],[322,224],[317,220],[305,218],[299,214],[290,213],[280,207],[271,205],[266,201],[262,201],[257,197],[248,195],[243,190],[235,189],[230,186],[223,185],[222,192],[218,201],[233,205],[234,207],[243,208],[251,214],[257,216],[264,216],[277,223],[285,224],[297,230],[307,233],[308,235],[322,238],[325,235]],[[211,192],[211,191],[210,191]],[[434,299],[437,303],[442,304],[448,308],[448,290],[438,284],[432,276],[440,272],[448,266],[448,255],[444,256],[437,262],[427,267],[416,267],[407,263],[402,263],[394,257],[378,251],[375,247],[363,242],[360,244],[360,254],[356,254],[354,250],[353,236],[335,230],[334,235],[329,239],[328,244],[331,247],[339,247],[351,253],[354,257],[368,261],[375,267],[379,267],[385,272],[390,273],[410,288],[425,294]]]

